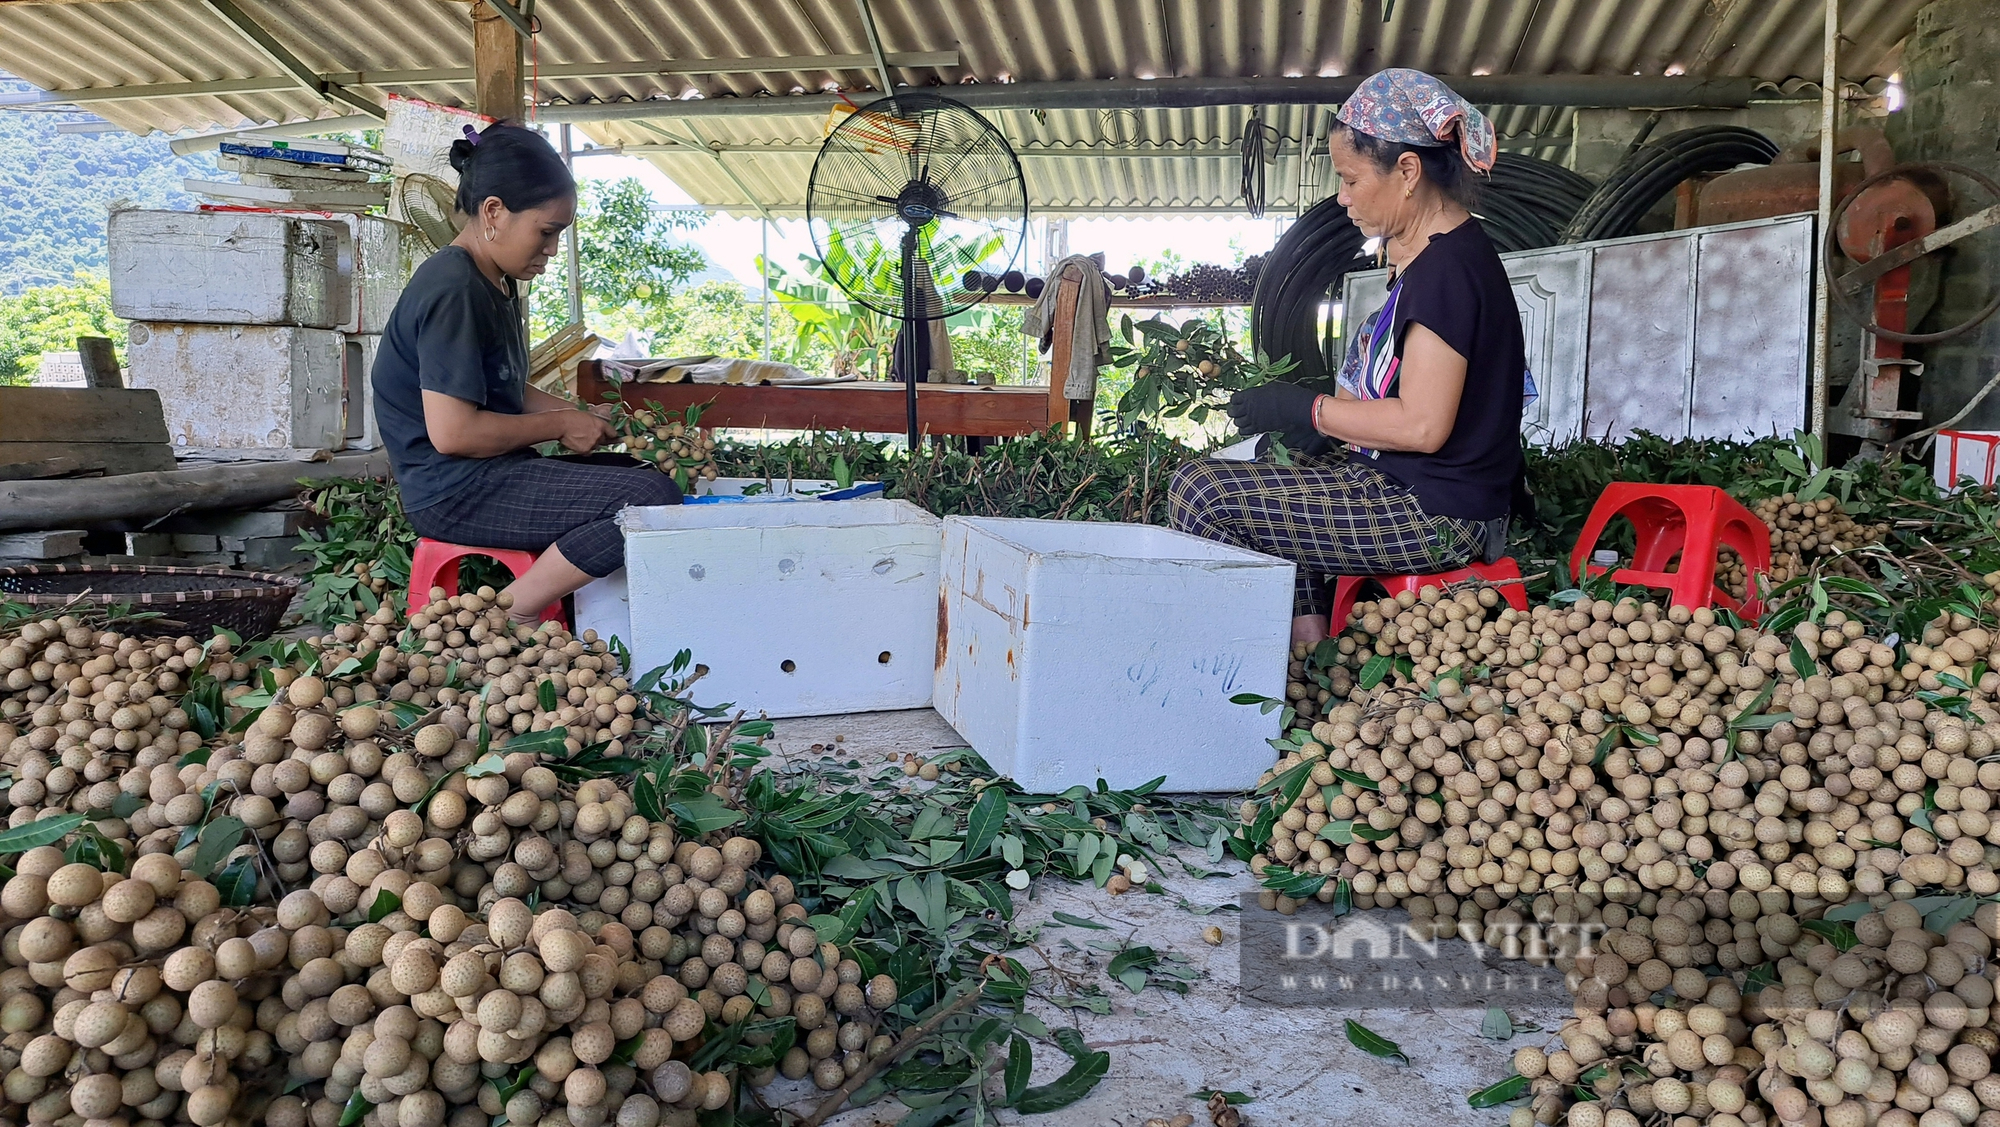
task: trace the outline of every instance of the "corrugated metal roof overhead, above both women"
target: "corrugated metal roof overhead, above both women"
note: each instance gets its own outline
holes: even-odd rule
[[[278,42],[322,74],[462,68],[472,58],[468,6],[454,0],[236,0]],[[1086,82],[1172,76],[1346,76],[1382,66],[1434,74],[1718,74],[1790,80],[1820,72],[1818,0],[874,0],[888,52],[956,52],[956,66],[898,68],[914,86],[958,82]],[[1842,76],[1878,78],[1922,0],[1842,4]],[[616,60],[730,60],[866,56],[854,0],[542,0],[534,66]],[[206,0],[0,6],[0,70],[44,90],[278,78],[282,68]],[[872,68],[800,62],[762,74],[646,74],[548,78],[540,100],[616,102],[684,96],[868,90]],[[380,82],[464,104],[470,82]],[[208,128],[334,116],[304,88],[90,102],[134,128]],[[1024,152],[1038,146],[1232,148],[1248,106],[1082,112],[1006,110],[994,124]],[[1500,106],[1510,148],[1556,152],[1570,114]],[[1272,206],[1298,186],[1308,108],[1276,106],[1266,122],[1290,142],[1266,170]],[[584,126],[606,144],[662,144],[664,128],[720,144],[722,160],[764,204],[800,202],[818,122],[796,116]],[[692,140],[692,138],[690,138]],[[740,148],[780,146],[776,152]],[[708,154],[648,154],[704,204],[746,208]],[[1042,210],[1232,208],[1240,166],[1226,156],[1186,160],[1026,156],[1030,200]]]

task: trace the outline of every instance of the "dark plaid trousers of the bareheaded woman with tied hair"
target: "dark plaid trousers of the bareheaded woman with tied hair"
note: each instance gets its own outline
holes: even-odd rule
[[[604,577],[624,567],[618,510],[680,504],[672,478],[624,462],[490,458],[456,494],[412,512],[410,524],[430,540],[478,548],[546,552],[554,544],[564,560]]]

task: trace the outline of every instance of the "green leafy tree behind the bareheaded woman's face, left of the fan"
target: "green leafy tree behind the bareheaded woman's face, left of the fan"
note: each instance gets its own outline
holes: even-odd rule
[[[680,240],[708,222],[700,212],[654,212],[652,194],[636,178],[586,180],[576,216],[578,280],[584,322],[600,336],[626,330],[656,334],[664,328],[676,290],[708,268],[700,248]],[[570,324],[562,258],[534,288],[530,318],[534,338],[554,336]],[[762,338],[762,328],[758,330]]]

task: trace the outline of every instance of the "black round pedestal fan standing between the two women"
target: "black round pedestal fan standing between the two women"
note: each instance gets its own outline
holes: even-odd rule
[[[806,186],[812,248],[848,298],[902,324],[910,450],[920,336],[970,310],[968,270],[1004,274],[1028,234],[1028,186],[1000,130],[936,94],[890,94],[848,114]]]

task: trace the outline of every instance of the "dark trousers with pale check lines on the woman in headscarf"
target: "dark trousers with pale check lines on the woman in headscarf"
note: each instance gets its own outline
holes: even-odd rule
[[[1298,565],[1294,615],[1330,611],[1336,575],[1414,575],[1464,567],[1484,522],[1434,518],[1366,460],[1342,452],[1270,462],[1190,462],[1174,472],[1174,528]]]

